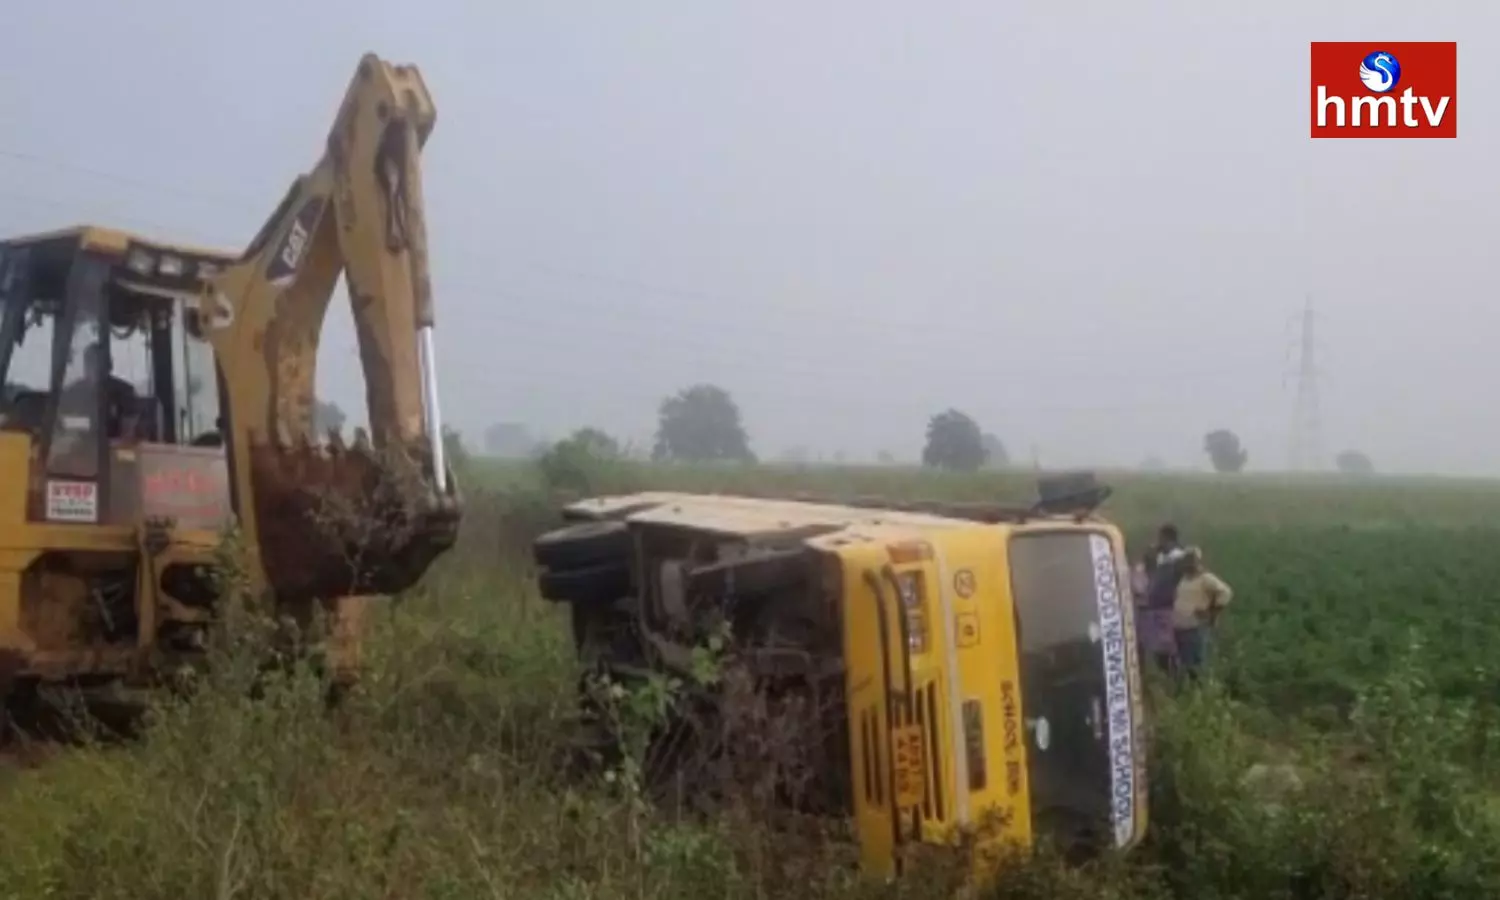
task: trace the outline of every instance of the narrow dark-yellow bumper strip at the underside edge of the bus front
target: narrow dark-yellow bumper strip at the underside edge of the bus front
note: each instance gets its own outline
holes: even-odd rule
[[[849,717],[849,765],[854,786],[854,824],[860,837],[860,862],[867,873],[894,878],[894,778],[886,704],[886,660],[896,636],[885,634],[882,652],[880,597],[866,573],[879,573],[885,562],[879,544],[840,548],[844,680]],[[886,632],[894,622],[888,622]],[[891,674],[892,678],[897,674]],[[900,681],[897,681],[900,682]]]

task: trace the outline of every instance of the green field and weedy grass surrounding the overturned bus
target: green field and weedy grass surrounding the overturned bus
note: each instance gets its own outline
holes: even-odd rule
[[[1149,842],[993,891],[1500,897],[1500,483],[1104,477],[1137,549],[1176,522],[1236,603],[1209,682],[1154,688]],[[525,542],[550,490],[638,488],[1023,501],[1032,477],[471,462],[460,548],[381,603],[336,712],[310,674],[248,699],[231,644],[140,740],[0,764],[0,898],[948,896],[861,884],[836,824],[564,771],[574,670]]]

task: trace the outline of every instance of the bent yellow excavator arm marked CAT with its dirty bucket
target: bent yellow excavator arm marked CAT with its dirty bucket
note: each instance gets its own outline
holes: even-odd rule
[[[420,171],[434,120],[414,66],[364,56],[322,158],[200,297],[250,578],[282,602],[404,590],[456,537]],[[340,274],[369,411],[352,444],[314,434]]]

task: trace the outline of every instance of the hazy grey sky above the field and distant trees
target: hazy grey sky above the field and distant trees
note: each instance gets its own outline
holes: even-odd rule
[[[240,249],[366,50],[417,63],[444,412],[915,459],[958,406],[1046,465],[1500,472],[1500,6],[898,0],[12,3],[0,230]],[[87,10],[87,12],[84,12]],[[1312,141],[1308,40],[1460,40],[1458,140]],[[1354,75],[1350,74],[1353,78]],[[334,310],[320,390],[363,406]]]

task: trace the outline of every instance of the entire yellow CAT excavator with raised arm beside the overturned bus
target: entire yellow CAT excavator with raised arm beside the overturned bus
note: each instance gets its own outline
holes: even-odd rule
[[[297,622],[322,609],[348,678],[366,598],[453,544],[420,174],[434,118],[416,68],[366,56],[322,158],[242,254],[96,226],[0,242],[0,698],[201,656],[231,525],[250,591]],[[351,442],[314,434],[340,274],[369,408]]]

